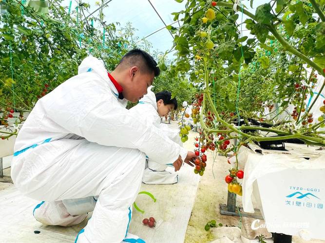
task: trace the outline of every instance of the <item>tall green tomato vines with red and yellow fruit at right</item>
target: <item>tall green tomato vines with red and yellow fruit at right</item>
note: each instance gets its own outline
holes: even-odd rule
[[[191,114],[203,129],[200,146],[227,155],[251,141],[325,145],[324,106],[320,117],[311,114],[325,87],[324,5],[274,1],[273,9],[265,3],[252,14],[228,1],[190,0],[173,13],[174,20],[184,17],[173,27],[177,59],[169,73],[187,73],[197,88],[189,104],[200,107]],[[241,35],[242,25],[253,37]]]

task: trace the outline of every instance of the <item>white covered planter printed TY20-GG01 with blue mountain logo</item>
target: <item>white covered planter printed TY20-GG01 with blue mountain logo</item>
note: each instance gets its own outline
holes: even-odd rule
[[[264,155],[242,147],[238,158],[240,167],[245,165],[244,211],[254,212],[253,193],[269,232],[325,240],[325,151],[317,146],[292,147],[286,144],[288,151]],[[306,159],[311,151],[313,156]]]

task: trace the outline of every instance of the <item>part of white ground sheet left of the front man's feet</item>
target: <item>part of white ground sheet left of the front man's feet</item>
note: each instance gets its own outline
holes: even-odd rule
[[[74,242],[82,226],[43,226],[33,217],[33,209],[38,203],[22,196],[13,184],[0,182],[1,243]],[[35,234],[36,230],[40,233]]]

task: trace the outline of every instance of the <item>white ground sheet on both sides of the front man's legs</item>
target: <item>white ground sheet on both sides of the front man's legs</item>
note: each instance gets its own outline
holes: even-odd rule
[[[193,173],[192,167],[185,165],[178,178],[178,183],[174,185],[142,184],[140,191],[151,192],[157,201],[154,203],[144,194],[138,196],[136,204],[145,213],[134,209],[129,228],[131,233],[147,243],[184,242],[200,176]],[[86,221],[73,227],[43,226],[33,217],[33,209],[38,203],[22,196],[12,184],[0,182],[0,243],[74,242]],[[144,218],[151,216],[161,221],[159,227],[150,228],[142,224]],[[35,234],[35,230],[40,233]]]

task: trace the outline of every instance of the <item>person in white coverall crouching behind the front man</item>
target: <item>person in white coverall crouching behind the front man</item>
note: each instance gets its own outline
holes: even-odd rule
[[[148,94],[146,94],[139,104],[130,109],[130,112],[134,115],[143,117],[147,120],[147,123],[152,123],[157,128],[161,129],[166,138],[178,143],[182,146],[181,139],[179,137],[178,130],[172,130],[165,123],[160,123],[160,117],[168,115],[172,110],[177,109],[176,98],[172,99],[172,94],[169,91],[162,91],[154,94],[151,91],[152,87],[148,88]],[[146,184],[174,184],[178,182],[178,175],[166,171],[167,165],[164,161],[157,163],[151,158],[148,158],[148,164],[143,174],[142,182]]]

